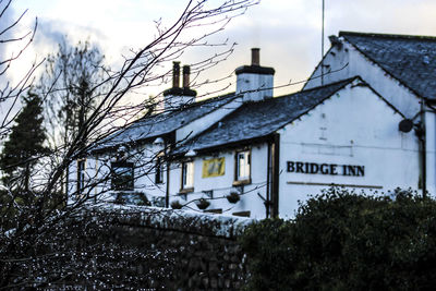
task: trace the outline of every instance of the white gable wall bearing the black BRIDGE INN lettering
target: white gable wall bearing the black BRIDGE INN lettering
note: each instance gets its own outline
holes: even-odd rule
[[[280,130],[280,216],[292,217],[299,201],[328,187],[288,182],[383,186],[378,192],[397,186],[417,189],[417,138],[413,131],[399,132],[401,120],[370,88],[348,85]],[[360,165],[365,167],[365,175],[291,173],[287,161]]]

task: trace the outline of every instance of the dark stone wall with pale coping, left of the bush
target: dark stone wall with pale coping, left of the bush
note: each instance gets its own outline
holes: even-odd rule
[[[105,226],[88,243],[135,253],[122,268],[113,267],[117,255],[97,259],[125,289],[238,290],[245,282],[237,238],[251,219],[141,207],[94,208],[87,216]]]

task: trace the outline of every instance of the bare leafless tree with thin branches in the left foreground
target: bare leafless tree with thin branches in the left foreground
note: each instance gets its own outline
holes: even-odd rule
[[[7,2],[0,13],[0,20],[4,17],[11,1]],[[99,183],[109,180],[110,174],[98,177],[98,180],[93,180],[86,185],[86,189],[77,189],[75,194],[84,195],[72,201],[71,204],[66,204],[66,197],[58,195],[64,172],[77,158],[88,155],[89,150],[101,141],[116,131],[129,126],[137,116],[159,108],[160,96],[147,99],[140,105],[130,106],[123,102],[128,94],[167,82],[171,71],[165,70],[166,63],[174,61],[191,47],[215,47],[214,44],[207,41],[207,38],[222,31],[231,19],[244,13],[250,5],[256,2],[254,0],[222,0],[215,3],[207,0],[187,1],[179,19],[172,25],[167,27],[162,22],[157,21],[155,38],[143,48],[132,50],[130,56],[124,56],[123,65],[119,70],[105,71],[106,78],[86,85],[89,92],[101,93],[99,94],[100,98],[93,102],[93,106],[86,108],[86,119],[81,119],[81,122],[76,124],[74,134],[72,131],[64,132],[65,138],[61,138],[61,143],[52,147],[49,154],[36,157],[40,171],[37,177],[34,177],[33,186],[27,193],[32,197],[28,199],[31,203],[24,205],[17,203],[13,193],[4,186],[2,187],[0,289],[47,287],[50,283],[66,280],[71,274],[83,275],[78,277],[84,281],[95,280],[95,276],[87,274],[89,266],[84,266],[84,260],[75,260],[74,257],[77,256],[77,253],[69,245],[74,240],[83,239],[83,235],[86,235],[84,233],[89,234],[77,227],[86,226],[86,223],[76,223],[73,218],[82,216],[83,206],[89,199],[95,198],[94,189]],[[20,57],[21,51],[32,43],[35,34],[36,24],[24,36],[9,37],[5,34],[16,28],[22,16],[0,32],[0,37],[3,38],[0,39],[0,45],[15,41],[22,44],[21,47],[17,46],[15,54],[0,60],[0,76],[7,75],[10,63]],[[199,74],[203,70],[225,59],[231,51],[232,46],[226,46],[218,52],[214,50],[210,57],[192,65],[193,73]],[[28,88],[36,66],[37,64],[32,64],[29,71],[16,85],[5,83],[5,86],[1,88],[0,104],[2,108],[8,106],[0,124],[0,133],[3,136],[13,124],[14,117],[19,111],[16,110],[16,100]],[[80,87],[81,84],[76,84],[76,86]],[[47,94],[59,89],[56,83],[46,88],[48,88]],[[168,146],[170,145],[166,145],[162,150],[166,150]],[[131,155],[135,156],[136,153]],[[154,158],[156,157],[157,154]],[[90,230],[87,229],[87,231]],[[59,270],[63,263],[68,264]]]

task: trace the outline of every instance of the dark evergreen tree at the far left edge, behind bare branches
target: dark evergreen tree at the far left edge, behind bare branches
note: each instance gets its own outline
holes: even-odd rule
[[[32,170],[46,150],[41,102],[41,98],[31,92],[23,97],[22,111],[0,155],[2,181],[12,190],[28,192]]]

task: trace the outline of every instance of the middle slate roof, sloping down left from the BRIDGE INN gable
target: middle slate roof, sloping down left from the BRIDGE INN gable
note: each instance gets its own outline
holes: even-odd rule
[[[307,113],[355,78],[358,77],[263,101],[246,102],[172,154],[210,149],[268,136]]]

